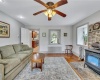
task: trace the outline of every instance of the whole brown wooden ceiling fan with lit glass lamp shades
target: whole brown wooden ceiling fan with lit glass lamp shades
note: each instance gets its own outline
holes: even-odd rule
[[[66,14],[64,14],[64,13],[58,11],[58,10],[55,10],[55,8],[57,8],[57,7],[59,7],[59,6],[62,6],[62,5],[64,5],[64,4],[67,4],[67,3],[68,3],[67,0],[60,0],[59,2],[57,2],[57,3],[55,3],[55,4],[54,4],[53,2],[44,3],[44,2],[41,1],[41,0],[34,0],[34,1],[40,3],[41,5],[43,5],[43,6],[45,6],[45,7],[47,8],[47,9],[45,9],[45,10],[41,10],[41,11],[39,11],[39,12],[34,13],[34,14],[33,14],[34,16],[44,12],[44,14],[45,14],[46,16],[48,16],[48,20],[49,20],[49,21],[51,20],[51,18],[52,18],[55,14],[58,14],[58,15],[60,15],[60,16],[62,16],[62,17],[66,17]]]

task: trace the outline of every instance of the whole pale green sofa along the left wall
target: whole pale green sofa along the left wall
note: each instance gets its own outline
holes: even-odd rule
[[[12,80],[29,62],[32,48],[24,44],[0,47],[0,80]]]

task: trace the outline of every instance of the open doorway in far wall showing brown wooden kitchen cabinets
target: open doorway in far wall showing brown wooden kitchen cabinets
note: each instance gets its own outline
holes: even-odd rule
[[[33,52],[39,52],[39,35],[40,31],[39,30],[33,30],[32,31],[32,48]]]

